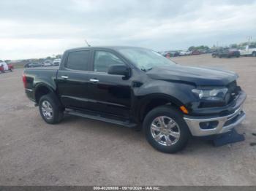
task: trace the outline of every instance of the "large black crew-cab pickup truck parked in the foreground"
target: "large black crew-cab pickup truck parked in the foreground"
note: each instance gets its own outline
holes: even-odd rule
[[[58,67],[25,69],[23,84],[45,122],[73,114],[141,127],[155,149],[173,153],[190,136],[226,133],[244,120],[237,78],[145,48],[82,47],[64,52]]]

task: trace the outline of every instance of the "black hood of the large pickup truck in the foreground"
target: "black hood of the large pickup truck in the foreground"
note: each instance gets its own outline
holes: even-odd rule
[[[238,78],[233,71],[191,66],[159,66],[146,74],[151,79],[182,82],[196,86],[225,86]]]

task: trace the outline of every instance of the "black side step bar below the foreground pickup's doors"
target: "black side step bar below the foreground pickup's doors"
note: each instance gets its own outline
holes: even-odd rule
[[[116,125],[122,125],[124,127],[127,128],[135,128],[137,126],[136,123],[132,123],[129,122],[129,120],[113,120],[107,117],[102,117],[101,114],[87,114],[85,112],[78,112],[76,110],[72,110],[72,109],[66,109],[64,111],[65,114],[70,114],[70,115],[75,115],[78,117],[85,117],[91,120],[99,120],[99,121],[103,121],[103,122],[110,122]]]

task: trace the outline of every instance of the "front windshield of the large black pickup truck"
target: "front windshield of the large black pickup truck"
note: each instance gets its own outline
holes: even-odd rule
[[[157,66],[176,64],[153,50],[143,48],[120,48],[118,52],[128,58],[129,61],[132,61],[132,63],[142,71],[148,71]]]

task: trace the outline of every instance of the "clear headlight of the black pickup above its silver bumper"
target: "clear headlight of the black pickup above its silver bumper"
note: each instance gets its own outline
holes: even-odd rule
[[[193,89],[198,98],[208,101],[223,101],[227,93],[227,88],[214,88],[214,89]]]

